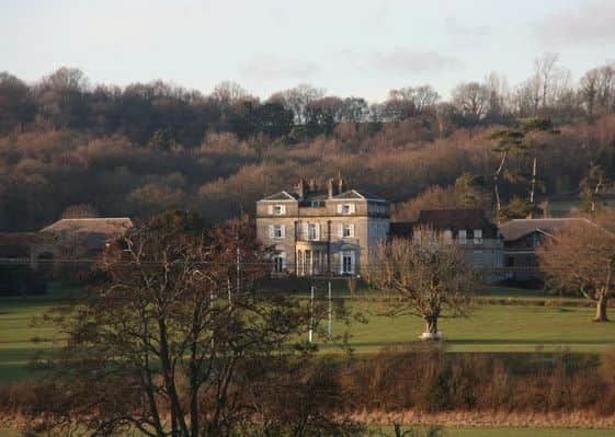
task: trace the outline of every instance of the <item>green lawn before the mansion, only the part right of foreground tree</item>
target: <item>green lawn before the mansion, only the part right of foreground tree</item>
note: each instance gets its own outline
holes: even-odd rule
[[[354,323],[351,329],[350,344],[357,353],[407,345],[424,331],[419,318],[376,315],[371,307],[353,303],[367,319],[366,324]],[[567,347],[576,353],[600,353],[615,343],[615,322],[593,323],[593,315],[591,308],[481,304],[468,318],[442,319],[440,330],[451,352],[527,353]],[[343,326],[334,325],[335,333],[341,330]]]

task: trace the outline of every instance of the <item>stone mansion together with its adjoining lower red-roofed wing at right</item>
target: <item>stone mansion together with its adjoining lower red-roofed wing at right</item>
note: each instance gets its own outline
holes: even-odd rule
[[[503,239],[482,210],[423,210],[414,222],[390,223],[387,200],[349,189],[341,177],[329,180],[326,187],[300,180],[294,189],[257,203],[257,237],[271,253],[273,273],[280,275],[360,275],[377,264],[378,241],[415,239],[418,227],[460,244],[468,265],[485,281],[502,278]]]

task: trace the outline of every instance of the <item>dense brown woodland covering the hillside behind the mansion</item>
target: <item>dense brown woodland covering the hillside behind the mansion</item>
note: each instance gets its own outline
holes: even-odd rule
[[[524,131],[524,119],[549,129]],[[395,203],[396,219],[494,212],[496,185],[505,217],[558,194],[591,203],[615,175],[615,67],[573,80],[546,54],[520,84],[491,73],[448,100],[419,85],[373,104],[307,84],[260,100],[231,82],[204,95],[161,81],[94,85],[70,68],[35,83],[0,74],[0,231],[169,208],[219,222],[299,176],[340,173]]]

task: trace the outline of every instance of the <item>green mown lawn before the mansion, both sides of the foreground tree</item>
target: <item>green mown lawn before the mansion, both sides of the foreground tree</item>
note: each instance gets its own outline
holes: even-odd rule
[[[489,296],[515,295],[527,291],[491,289]],[[29,360],[38,349],[58,346],[53,330],[32,326],[32,318],[50,308],[61,291],[54,289],[44,297],[0,299],[0,383],[27,378]],[[376,353],[383,347],[417,342],[423,322],[414,317],[379,315],[380,304],[367,298],[346,299],[349,307],[366,315],[367,323],[353,323],[351,346],[356,353]],[[554,301],[557,303],[557,301]],[[615,310],[612,317],[615,318]],[[592,323],[593,309],[534,304],[482,303],[468,318],[443,319],[440,329],[449,352],[531,353],[567,347],[574,353],[600,353],[615,343],[615,322]],[[344,330],[334,324],[334,333]],[[37,338],[37,342],[33,342]],[[54,340],[56,340],[54,342]],[[332,344],[322,344],[324,352],[335,352]]]

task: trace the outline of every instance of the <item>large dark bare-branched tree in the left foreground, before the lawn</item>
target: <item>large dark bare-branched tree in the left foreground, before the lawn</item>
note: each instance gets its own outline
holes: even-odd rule
[[[198,223],[175,211],[128,233],[103,256],[101,283],[53,320],[67,344],[49,363],[57,399],[38,405],[52,429],[197,437],[280,428],[260,388],[285,395],[288,359],[311,350],[287,347],[309,311],[288,294],[257,291],[267,268],[248,222],[207,232]],[[304,418],[295,435],[339,424],[331,411],[315,417],[296,406],[283,409]]]

